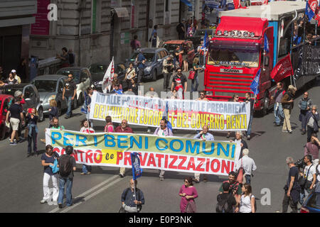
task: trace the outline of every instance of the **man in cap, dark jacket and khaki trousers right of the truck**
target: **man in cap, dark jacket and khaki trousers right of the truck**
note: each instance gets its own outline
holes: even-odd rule
[[[282,132],[292,133],[292,128],[290,124],[290,114],[293,108],[293,98],[296,91],[297,88],[293,87],[292,85],[289,85],[287,92],[284,93],[284,96],[282,97],[281,101],[284,113],[284,123],[282,127]]]

